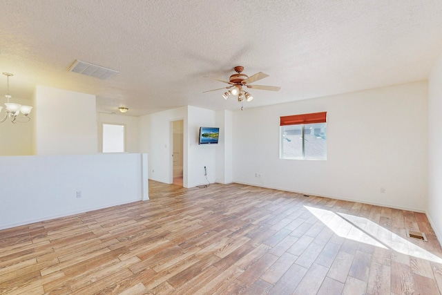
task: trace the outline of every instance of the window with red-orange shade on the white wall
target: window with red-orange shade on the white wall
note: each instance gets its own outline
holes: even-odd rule
[[[326,112],[280,120],[280,159],[327,160]]]

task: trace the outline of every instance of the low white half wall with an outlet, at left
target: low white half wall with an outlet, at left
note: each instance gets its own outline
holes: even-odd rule
[[[0,229],[148,199],[142,154],[0,157],[0,166]]]

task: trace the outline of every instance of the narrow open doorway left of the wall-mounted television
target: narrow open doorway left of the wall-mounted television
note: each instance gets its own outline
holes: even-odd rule
[[[172,122],[173,126],[173,183],[183,185],[184,120]]]

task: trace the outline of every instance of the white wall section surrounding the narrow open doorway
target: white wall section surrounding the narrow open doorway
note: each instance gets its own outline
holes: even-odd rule
[[[149,178],[172,183],[171,124],[184,120],[184,155],[186,155],[186,115],[187,107],[174,108],[140,117],[140,151],[148,153]],[[184,158],[183,181],[186,183],[186,158]]]

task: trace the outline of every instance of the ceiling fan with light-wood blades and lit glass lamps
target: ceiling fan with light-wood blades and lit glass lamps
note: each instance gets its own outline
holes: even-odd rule
[[[224,92],[224,94],[222,95],[222,97],[224,97],[224,99],[229,98],[229,96],[231,96],[231,95],[233,95],[233,96],[238,95],[238,102],[242,102],[242,101],[244,101],[244,99],[247,102],[250,102],[253,99],[253,96],[250,93],[248,93],[247,91],[244,91],[244,88],[269,90],[269,91],[279,91],[280,90],[280,87],[277,87],[277,86],[250,85],[250,83],[256,82],[260,79],[264,79],[265,77],[269,77],[269,75],[267,75],[265,73],[260,72],[260,73],[256,73],[255,75],[252,75],[249,77],[245,74],[242,74],[242,71],[244,70],[243,66],[236,66],[234,68],[234,70],[236,71],[236,74],[231,75],[229,78],[229,81],[211,78],[216,81],[230,84],[230,86],[218,88],[218,89],[213,89],[213,90],[209,90],[209,91],[203,91],[203,93],[211,92],[211,91],[218,91],[221,89],[229,89],[229,91]]]

